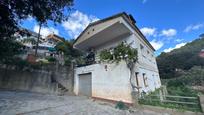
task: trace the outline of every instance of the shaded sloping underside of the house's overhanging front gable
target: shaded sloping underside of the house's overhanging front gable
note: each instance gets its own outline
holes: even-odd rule
[[[92,33],[84,33],[84,36],[82,35],[82,37],[76,41],[74,47],[82,51],[88,51],[90,48],[97,48],[103,46],[107,42],[115,41],[132,34],[129,28],[121,22],[116,22],[100,31],[96,31],[97,28],[95,28],[95,31]]]

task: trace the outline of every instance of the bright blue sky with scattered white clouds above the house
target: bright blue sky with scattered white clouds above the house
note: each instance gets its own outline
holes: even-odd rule
[[[90,22],[119,12],[134,16],[156,54],[179,48],[204,33],[204,0],[75,0],[73,8],[70,20],[57,26],[48,22],[42,35],[76,38]],[[22,26],[38,30],[32,17],[22,21]]]

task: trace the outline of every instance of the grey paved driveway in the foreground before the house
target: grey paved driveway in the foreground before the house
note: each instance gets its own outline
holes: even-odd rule
[[[79,96],[0,91],[0,115],[164,115],[147,110],[118,110],[114,106]]]

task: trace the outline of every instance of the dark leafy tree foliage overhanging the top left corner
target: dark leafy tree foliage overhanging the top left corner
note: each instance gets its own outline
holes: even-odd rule
[[[72,5],[73,0],[1,0],[0,42],[10,43],[7,40],[13,40],[12,36],[19,31],[19,23],[30,16],[40,25],[46,24],[47,20],[57,23],[67,20]]]

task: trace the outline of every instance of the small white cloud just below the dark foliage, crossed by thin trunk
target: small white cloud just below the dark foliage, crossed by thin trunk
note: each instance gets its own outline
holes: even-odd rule
[[[33,28],[33,31],[38,33],[39,31],[39,26],[38,25],[35,25],[34,28]],[[43,37],[46,37],[48,36],[49,34],[59,34],[59,31],[53,27],[41,27],[41,31],[40,31],[40,34],[43,36]]]

